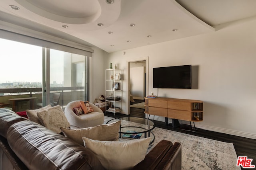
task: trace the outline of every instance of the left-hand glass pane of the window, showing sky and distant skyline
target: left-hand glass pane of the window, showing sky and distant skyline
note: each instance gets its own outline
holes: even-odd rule
[[[34,109],[42,100],[42,47],[6,39],[0,47],[0,107]]]

